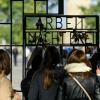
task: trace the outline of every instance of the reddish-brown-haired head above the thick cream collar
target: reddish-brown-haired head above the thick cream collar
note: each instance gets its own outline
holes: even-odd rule
[[[86,54],[82,50],[74,50],[71,52],[68,58],[68,64],[70,63],[85,63],[87,66],[91,67],[91,63],[86,57]]]

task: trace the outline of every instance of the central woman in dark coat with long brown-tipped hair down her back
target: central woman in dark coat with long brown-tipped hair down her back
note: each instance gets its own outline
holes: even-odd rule
[[[63,70],[57,67],[60,54],[55,46],[48,46],[44,52],[40,69],[33,75],[28,100],[55,100],[57,84],[63,77]]]

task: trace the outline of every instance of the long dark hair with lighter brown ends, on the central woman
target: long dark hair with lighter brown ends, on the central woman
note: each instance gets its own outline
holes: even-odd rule
[[[44,59],[42,63],[43,85],[45,89],[48,89],[52,85],[54,81],[53,69],[59,62],[60,55],[57,48],[54,46],[47,47],[44,53]]]

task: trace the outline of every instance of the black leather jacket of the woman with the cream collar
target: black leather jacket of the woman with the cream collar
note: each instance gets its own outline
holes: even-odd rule
[[[81,84],[86,88],[89,95],[93,98],[92,100],[100,100],[100,85],[96,90],[96,77],[91,76],[88,79],[77,78]],[[87,96],[83,90],[78,86],[78,84],[67,76],[64,79],[64,100],[88,100]],[[99,95],[98,95],[99,90]]]

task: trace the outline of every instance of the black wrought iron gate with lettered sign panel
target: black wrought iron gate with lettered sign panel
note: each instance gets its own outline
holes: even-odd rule
[[[45,2],[45,13],[37,13],[37,2]],[[48,0],[34,0],[34,13],[24,12],[24,0],[10,0],[10,21],[0,23],[10,27],[10,43],[0,45],[10,47],[11,58],[13,47],[20,47],[22,54],[22,77],[24,78],[28,70],[26,66],[26,47],[55,45],[60,48],[62,53],[63,47],[89,47],[96,46],[99,48],[99,16],[97,15],[64,15],[64,1],[58,0],[58,13],[48,12]],[[14,3],[20,3],[21,11],[21,32],[22,44],[13,44],[13,10]],[[85,20],[93,19],[94,28],[85,27]],[[31,24],[28,23],[32,21]],[[19,66],[20,67],[20,66]],[[13,64],[10,75],[13,83]],[[21,92],[20,89],[17,89]]]

